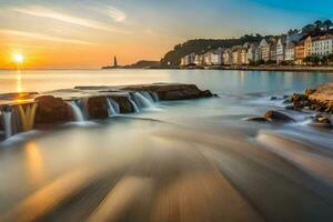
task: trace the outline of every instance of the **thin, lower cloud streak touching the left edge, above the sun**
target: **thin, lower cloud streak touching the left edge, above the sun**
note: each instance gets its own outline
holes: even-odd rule
[[[24,37],[30,39],[37,40],[44,40],[44,41],[53,41],[53,42],[62,42],[62,43],[73,43],[73,44],[95,44],[93,42],[87,42],[78,39],[69,39],[69,38],[61,38],[61,37],[51,37],[48,34],[41,33],[33,33],[33,32],[26,32],[26,31],[18,31],[11,29],[0,29],[0,33],[7,36],[16,36],[16,37]]]

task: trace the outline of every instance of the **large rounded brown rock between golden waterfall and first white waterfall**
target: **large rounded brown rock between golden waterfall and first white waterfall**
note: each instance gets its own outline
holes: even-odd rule
[[[61,98],[42,95],[36,101],[38,102],[34,119],[37,127],[60,124],[71,120],[70,109]]]

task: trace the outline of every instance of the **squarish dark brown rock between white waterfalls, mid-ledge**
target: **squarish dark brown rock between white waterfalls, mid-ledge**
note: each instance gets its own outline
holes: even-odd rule
[[[87,111],[90,119],[109,118],[107,97],[93,97],[87,101]]]

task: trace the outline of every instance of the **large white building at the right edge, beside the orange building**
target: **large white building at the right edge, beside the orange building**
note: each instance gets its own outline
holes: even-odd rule
[[[333,53],[333,36],[326,34],[313,38],[311,46],[311,54],[324,57]]]

